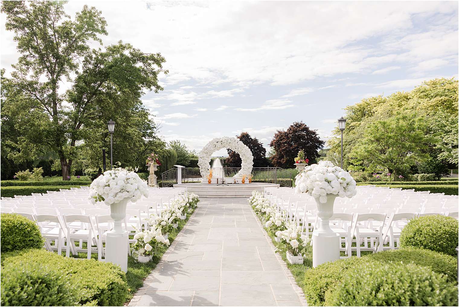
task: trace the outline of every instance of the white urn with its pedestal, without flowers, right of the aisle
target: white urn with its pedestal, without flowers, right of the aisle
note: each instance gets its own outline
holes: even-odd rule
[[[338,195],[327,194],[327,202],[324,204],[319,201],[319,198],[315,199],[320,225],[319,229],[313,231],[313,267],[340,259],[340,234],[330,228],[336,196]]]

